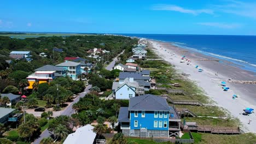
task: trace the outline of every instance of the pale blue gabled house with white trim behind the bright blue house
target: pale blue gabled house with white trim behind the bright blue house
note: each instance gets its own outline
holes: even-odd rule
[[[126,78],[124,81],[113,82],[112,91],[115,99],[130,99],[144,94],[144,87],[139,87],[133,78]]]

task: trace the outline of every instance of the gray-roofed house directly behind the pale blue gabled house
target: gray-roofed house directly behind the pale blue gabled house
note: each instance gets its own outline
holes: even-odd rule
[[[150,89],[150,76],[143,76],[142,72],[120,72],[119,81],[124,81],[126,78],[133,77],[134,81],[137,81],[140,86],[144,87],[145,91]]]

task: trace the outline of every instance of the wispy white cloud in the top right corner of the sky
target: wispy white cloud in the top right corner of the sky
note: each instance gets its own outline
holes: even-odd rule
[[[256,19],[256,2],[228,1],[222,5],[211,5],[216,11]]]

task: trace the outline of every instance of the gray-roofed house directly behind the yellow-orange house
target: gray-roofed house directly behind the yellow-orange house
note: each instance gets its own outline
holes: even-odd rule
[[[55,77],[65,77],[66,76],[66,69],[61,67],[56,67],[54,65],[44,65],[34,71],[55,71]]]

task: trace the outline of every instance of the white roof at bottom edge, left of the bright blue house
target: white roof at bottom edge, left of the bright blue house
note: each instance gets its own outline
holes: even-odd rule
[[[75,130],[74,133],[69,134],[63,144],[95,144],[97,142],[97,134],[94,132],[93,129],[94,127],[90,124],[87,124],[84,127],[80,127]]]

